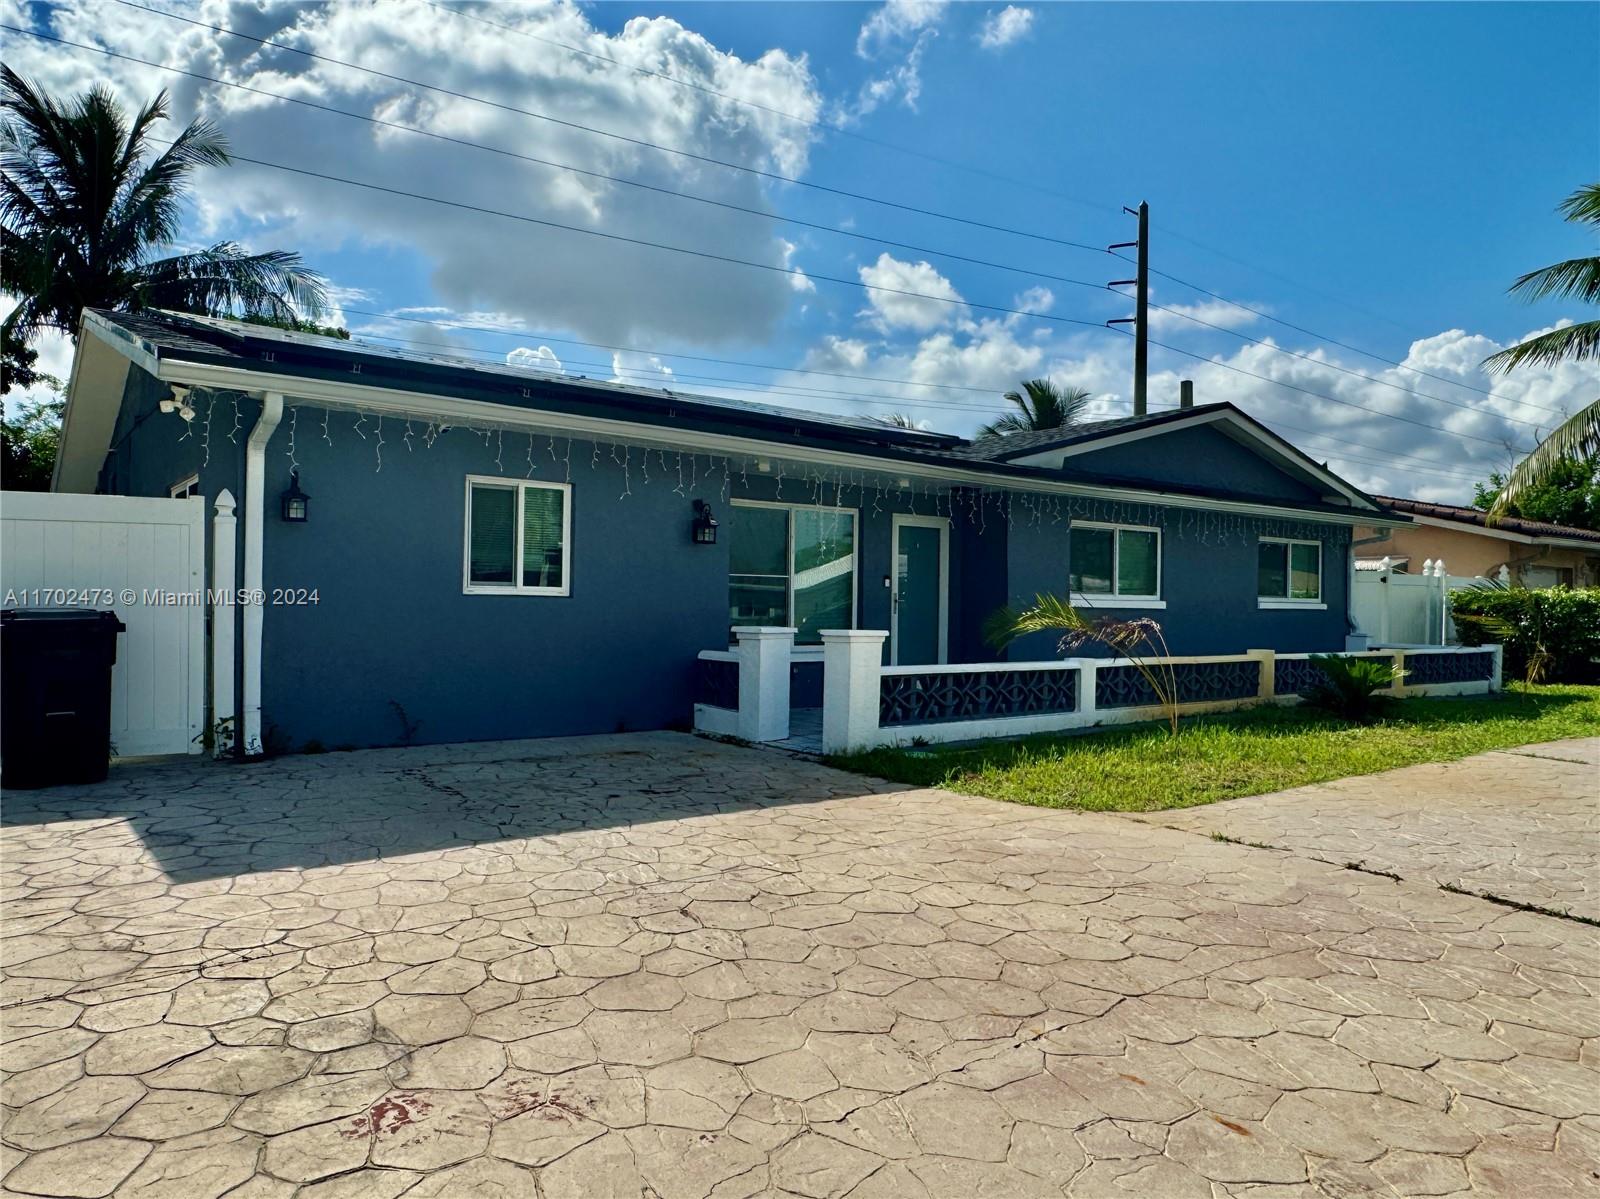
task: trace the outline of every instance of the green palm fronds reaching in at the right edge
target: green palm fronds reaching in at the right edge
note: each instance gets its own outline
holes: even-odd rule
[[[1558,211],[1568,219],[1587,224],[1600,232],[1600,182],[1590,182],[1562,200]],[[1528,301],[1573,296],[1589,304],[1600,303],[1600,256],[1570,258],[1565,263],[1531,271],[1510,285],[1512,295]],[[1483,368],[1507,371],[1515,367],[1549,367],[1565,359],[1600,357],[1600,320],[1584,320],[1566,328],[1550,330],[1504,349],[1483,360]],[[1512,469],[1499,496],[1490,507],[1490,515],[1504,515],[1517,496],[1544,482],[1555,464],[1568,459],[1584,459],[1600,455],[1600,400],[1594,400],[1563,421]]]

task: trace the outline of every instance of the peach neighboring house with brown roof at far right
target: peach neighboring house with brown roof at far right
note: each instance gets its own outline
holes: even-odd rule
[[[1600,586],[1600,533],[1594,530],[1510,515],[1490,522],[1477,507],[1378,499],[1413,523],[1358,528],[1357,568],[1376,568],[1387,557],[1397,568],[1418,573],[1432,560],[1443,562],[1451,575],[1483,578],[1498,578],[1504,567],[1510,581],[1525,587]]]

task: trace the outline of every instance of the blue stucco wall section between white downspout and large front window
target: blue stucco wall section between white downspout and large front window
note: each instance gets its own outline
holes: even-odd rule
[[[453,429],[426,448],[413,424],[408,450],[390,419],[378,471],[371,418],[363,440],[334,415],[331,447],[320,421],[309,408],[296,429],[310,520],[269,509],[266,522],[267,587],[320,600],[266,615],[262,714],[291,744],[394,743],[394,704],[429,743],[688,724],[694,656],[726,636],[726,541],[690,539],[691,501],[715,506],[720,477],[675,495],[677,474],[654,459],[643,482],[637,448],[624,480],[608,447],[592,464],[574,442],[571,594],[466,595],[466,477],[523,477],[528,439]],[[288,487],[288,426],[286,413],[267,451],[274,499]],[[542,437],[534,464],[536,479],[566,479]]]

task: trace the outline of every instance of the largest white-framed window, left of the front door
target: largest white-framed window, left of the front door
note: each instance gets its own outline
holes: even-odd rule
[[[792,626],[797,645],[856,628],[853,507],[734,499],[728,535],[728,626]]]

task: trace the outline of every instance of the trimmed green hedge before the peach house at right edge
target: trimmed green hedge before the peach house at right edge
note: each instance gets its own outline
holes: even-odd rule
[[[1600,587],[1456,591],[1450,595],[1462,645],[1499,642],[1504,676],[1531,682],[1600,680]]]

